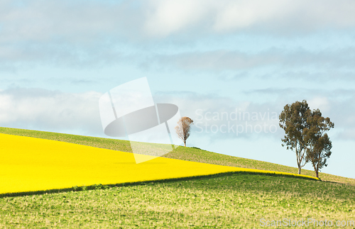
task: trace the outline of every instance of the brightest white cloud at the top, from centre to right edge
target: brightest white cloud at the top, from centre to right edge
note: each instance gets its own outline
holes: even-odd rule
[[[166,36],[187,28],[202,28],[209,33],[232,32],[249,28],[276,33],[348,28],[355,24],[355,2],[346,1],[150,1],[146,18],[148,33]],[[204,30],[202,29],[202,30]],[[201,29],[197,28],[197,32]]]

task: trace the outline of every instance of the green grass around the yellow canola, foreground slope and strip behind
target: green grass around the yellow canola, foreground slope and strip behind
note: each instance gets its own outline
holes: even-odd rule
[[[10,128],[0,128],[0,133],[131,150],[126,141],[105,138]],[[180,147],[166,157],[280,172],[297,171],[279,164],[190,147]],[[305,170],[302,172],[307,174]],[[355,220],[354,179],[330,174],[320,176],[323,181],[260,174],[218,174],[88,191],[5,196],[0,199],[0,228],[262,228],[262,218],[264,222],[313,218],[332,220],[333,224],[337,220],[351,223],[350,220]],[[307,228],[315,228],[312,225]],[[343,228],[355,228],[355,225]]]

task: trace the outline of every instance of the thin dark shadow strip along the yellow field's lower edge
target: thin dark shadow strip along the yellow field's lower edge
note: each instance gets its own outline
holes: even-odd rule
[[[295,179],[307,179],[312,181],[320,181],[317,179],[312,179],[310,177],[297,177],[293,174],[266,174],[263,172],[224,172],[219,174],[210,174],[210,175],[202,175],[202,176],[195,176],[195,177],[180,177],[180,178],[170,178],[170,179],[159,179],[159,180],[151,180],[151,181],[136,181],[136,182],[126,182],[120,184],[93,184],[90,186],[73,186],[72,188],[66,189],[48,189],[48,190],[40,190],[40,191],[23,191],[23,192],[14,192],[14,193],[7,193],[7,194],[0,194],[0,198],[4,197],[14,197],[14,196],[33,196],[33,195],[42,195],[42,194],[60,194],[69,191],[87,191],[87,190],[99,190],[99,189],[110,189],[113,187],[121,187],[121,186],[138,186],[138,185],[146,185],[146,184],[158,184],[158,183],[170,183],[175,181],[192,181],[195,179],[201,178],[217,178],[217,177],[227,177],[231,174],[249,174],[249,175],[263,175],[268,177],[293,177]],[[326,181],[330,183],[338,184],[337,182]]]

